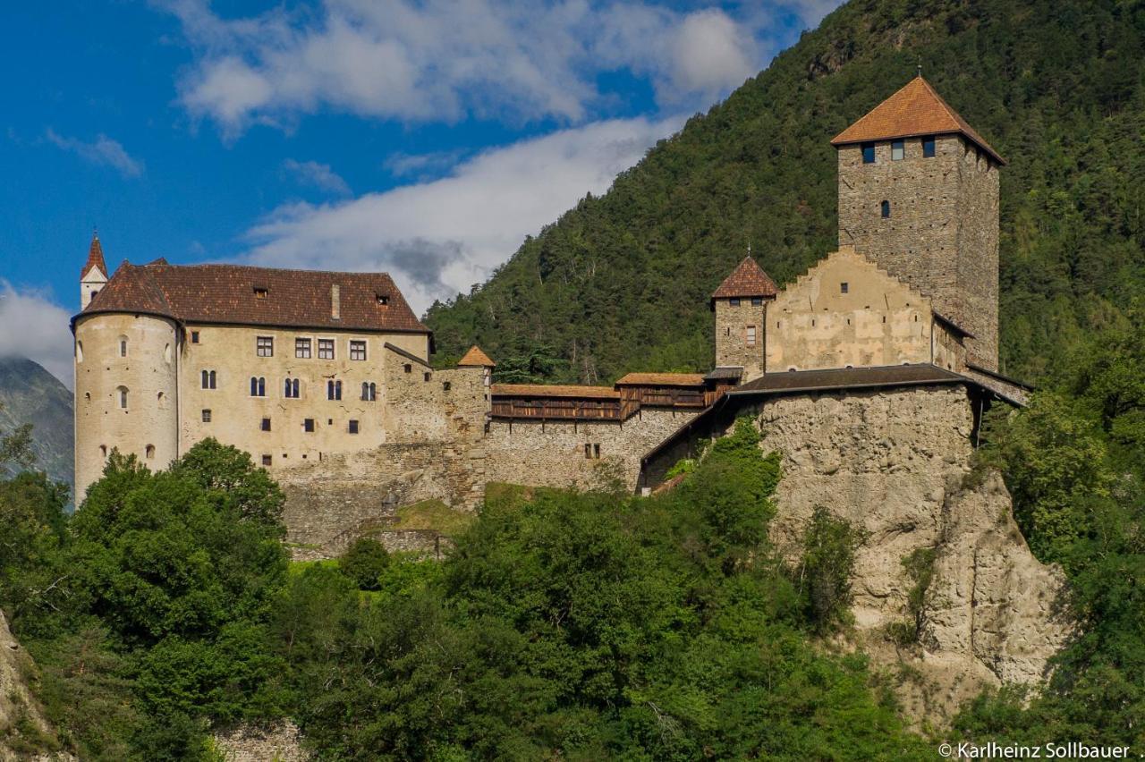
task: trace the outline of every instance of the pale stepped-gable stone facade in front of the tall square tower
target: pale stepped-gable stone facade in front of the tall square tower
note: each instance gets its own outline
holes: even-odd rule
[[[931,363],[961,370],[961,334],[931,301],[842,246],[767,309],[771,372]]]

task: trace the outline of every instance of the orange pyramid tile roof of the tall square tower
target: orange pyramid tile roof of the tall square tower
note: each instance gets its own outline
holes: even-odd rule
[[[831,145],[950,133],[965,136],[1000,164],[1005,164],[1005,159],[990,148],[965,119],[947,105],[931,84],[921,76],[915,77],[898,93],[871,109],[867,116],[836,135]]]

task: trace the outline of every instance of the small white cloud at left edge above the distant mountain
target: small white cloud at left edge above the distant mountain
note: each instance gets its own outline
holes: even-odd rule
[[[71,315],[47,294],[0,280],[0,357],[27,357],[69,389],[73,384]]]

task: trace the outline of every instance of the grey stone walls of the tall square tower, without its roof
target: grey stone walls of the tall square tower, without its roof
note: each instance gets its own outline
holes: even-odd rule
[[[859,144],[838,148],[839,244],[851,244],[890,275],[933,301],[969,331],[971,362],[997,367],[998,164],[961,135],[875,143],[864,164]],[[884,215],[883,203],[887,209]]]

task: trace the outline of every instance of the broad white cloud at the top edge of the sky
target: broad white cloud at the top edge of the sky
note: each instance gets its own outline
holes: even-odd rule
[[[649,76],[663,103],[708,102],[753,73],[766,46],[719,9],[589,0],[325,0],[223,19],[167,0],[196,61],[181,101],[230,136],[319,109],[401,121],[590,117],[597,77]]]

